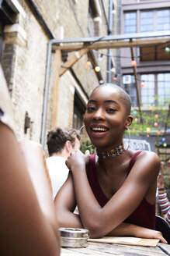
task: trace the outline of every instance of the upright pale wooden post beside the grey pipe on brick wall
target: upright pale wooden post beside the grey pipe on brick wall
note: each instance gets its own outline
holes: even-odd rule
[[[54,68],[54,84],[52,89],[52,117],[51,117],[51,129],[57,126],[57,113],[58,113],[58,101],[59,101],[59,86],[60,76],[59,70],[61,66],[61,50],[55,52],[55,68]]]

